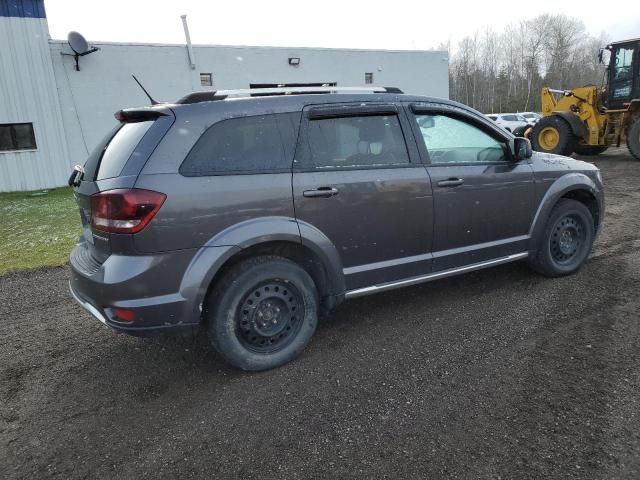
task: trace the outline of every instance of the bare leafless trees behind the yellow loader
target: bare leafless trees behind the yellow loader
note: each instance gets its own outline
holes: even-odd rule
[[[540,111],[543,86],[602,85],[598,51],[606,43],[565,15],[539,15],[502,32],[486,28],[450,54],[449,97],[484,113]]]

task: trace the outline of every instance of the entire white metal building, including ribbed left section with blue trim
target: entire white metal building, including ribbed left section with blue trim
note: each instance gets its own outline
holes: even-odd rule
[[[197,90],[371,83],[448,97],[442,51],[91,43],[75,69],[49,38],[44,0],[0,0],[0,191],[62,186],[115,124],[115,111]],[[176,19],[176,21],[178,21]],[[87,32],[85,32],[87,33]],[[89,32],[90,33],[90,32]]]

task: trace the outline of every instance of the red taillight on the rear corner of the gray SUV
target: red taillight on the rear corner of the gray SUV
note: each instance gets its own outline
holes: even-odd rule
[[[151,190],[116,189],[91,195],[91,227],[109,233],[137,233],[167,196]]]

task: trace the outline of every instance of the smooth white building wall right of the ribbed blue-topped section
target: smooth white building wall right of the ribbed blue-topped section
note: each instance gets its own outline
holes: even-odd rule
[[[133,81],[136,75],[159,101],[175,101],[197,90],[249,88],[252,83],[337,82],[394,86],[407,93],[448,98],[447,52],[374,51],[321,48],[234,47],[194,45],[191,69],[184,45],[91,43],[100,51],[80,59],[74,69],[66,42],[51,42],[51,58],[62,106],[72,163],[83,163],[89,151],[115,125],[113,114],[148,105]],[[289,57],[301,59],[291,67]],[[213,87],[200,86],[200,73],[211,73]]]

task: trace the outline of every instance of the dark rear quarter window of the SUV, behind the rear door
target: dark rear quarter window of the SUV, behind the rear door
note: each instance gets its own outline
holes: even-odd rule
[[[293,117],[284,114],[282,118]],[[289,126],[292,128],[291,122]],[[187,155],[180,173],[206,176],[277,172],[290,168],[291,161],[285,155],[278,117],[259,115],[222,120],[211,126]]]

